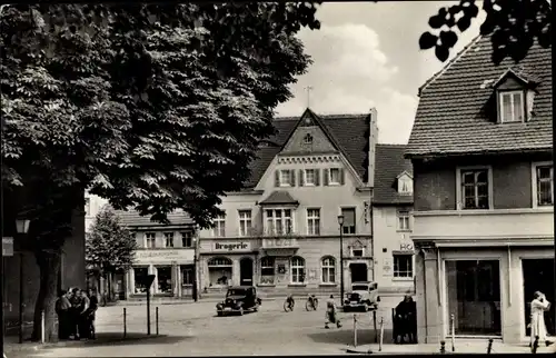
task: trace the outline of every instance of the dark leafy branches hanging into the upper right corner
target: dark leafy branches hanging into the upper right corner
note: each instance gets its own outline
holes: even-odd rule
[[[486,19],[480,26],[480,34],[492,34],[494,63],[499,64],[507,57],[519,62],[535,39],[542,47],[550,47],[552,6],[548,1],[484,0],[483,10]],[[475,0],[460,0],[458,4],[440,8],[428,21],[437,34],[424,32],[419,38],[420,49],[435,48],[436,58],[446,61],[458,40],[455,28],[460,33],[466,31],[478,13]]]

